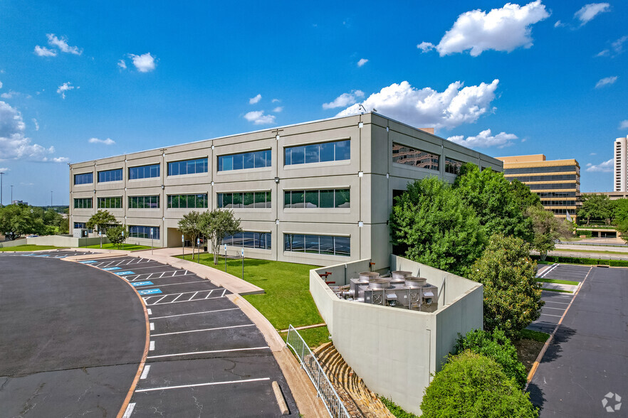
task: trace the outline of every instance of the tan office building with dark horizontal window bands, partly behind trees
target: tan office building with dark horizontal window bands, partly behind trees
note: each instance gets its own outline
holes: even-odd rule
[[[575,159],[547,161],[545,155],[496,157],[503,161],[504,177],[514,178],[530,187],[541,204],[556,216],[569,213],[575,219],[576,201],[580,195],[580,164]]]

